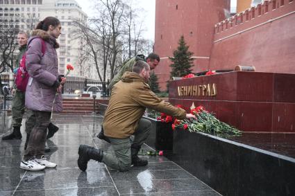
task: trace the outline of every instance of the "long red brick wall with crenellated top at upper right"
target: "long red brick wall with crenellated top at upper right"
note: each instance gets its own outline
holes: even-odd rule
[[[215,25],[210,69],[238,64],[256,71],[295,73],[295,2],[264,1]]]

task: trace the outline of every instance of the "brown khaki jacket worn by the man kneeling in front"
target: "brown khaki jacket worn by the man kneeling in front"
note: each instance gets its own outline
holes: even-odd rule
[[[146,107],[178,119],[186,115],[184,109],[158,98],[140,75],[127,71],[112,88],[103,121],[104,134],[111,138],[128,138],[135,132]]]

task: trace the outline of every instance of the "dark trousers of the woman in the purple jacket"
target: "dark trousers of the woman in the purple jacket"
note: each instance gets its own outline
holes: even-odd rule
[[[33,111],[36,122],[28,139],[28,147],[24,153],[24,161],[33,157],[40,159],[44,155],[47,127],[50,123],[51,112]]]

